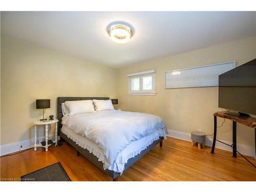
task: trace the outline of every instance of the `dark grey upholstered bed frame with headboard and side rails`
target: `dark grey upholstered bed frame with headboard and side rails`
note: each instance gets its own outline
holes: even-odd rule
[[[105,172],[107,175],[109,175],[113,181],[118,180],[119,173],[114,172],[113,170],[103,169],[103,163],[101,161],[98,161],[98,158],[94,156],[92,153],[90,153],[88,150],[85,150],[84,148],[77,145],[73,140],[69,139],[65,134],[61,132],[61,119],[63,117],[62,110],[61,110],[61,103],[65,101],[76,101],[76,100],[89,100],[89,99],[98,99],[98,100],[108,100],[109,97],[58,97],[57,98],[57,119],[58,121],[58,136],[60,136],[60,139],[66,140],[71,146],[73,146],[77,151],[77,156],[79,154],[86,157],[89,161],[91,161],[94,165],[96,165],[102,172]],[[148,151],[150,151],[153,147],[155,147],[158,143],[160,143],[160,147],[162,147],[162,141],[163,137],[160,137],[158,140],[154,141],[151,145],[147,146],[145,150],[141,151],[140,154],[136,155],[134,158],[131,158],[127,161],[127,163],[124,165],[123,172],[132,166],[136,161],[138,161],[143,155],[145,155]]]

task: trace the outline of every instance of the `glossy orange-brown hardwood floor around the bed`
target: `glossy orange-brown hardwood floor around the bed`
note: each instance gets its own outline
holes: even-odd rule
[[[256,168],[238,155],[210,147],[197,149],[190,142],[168,137],[163,147],[157,145],[118,181],[256,181]],[[249,157],[255,164],[256,160]],[[72,181],[112,181],[66,142],[60,147],[50,146],[46,153],[38,147],[25,152],[1,157],[1,178],[19,178],[25,174],[60,162]]]

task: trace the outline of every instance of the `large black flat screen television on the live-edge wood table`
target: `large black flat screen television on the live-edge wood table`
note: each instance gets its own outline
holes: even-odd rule
[[[219,75],[219,108],[256,115],[256,59]]]

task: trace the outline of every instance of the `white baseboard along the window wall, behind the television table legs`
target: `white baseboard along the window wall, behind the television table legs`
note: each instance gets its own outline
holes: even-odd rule
[[[167,136],[177,138],[177,139],[182,139],[182,140],[185,140],[185,141],[191,141],[190,133],[168,130],[168,135]],[[218,139],[218,140],[220,140],[220,139]],[[224,140],[220,140],[220,141],[222,141],[224,143],[227,143],[229,145],[232,144],[232,142],[230,142],[230,141],[224,141]],[[205,145],[212,146],[212,138],[206,137],[205,138]],[[229,151],[229,152],[232,151],[231,147],[229,147],[229,146],[227,146],[223,143],[220,143],[218,141],[216,142],[215,147],[220,148],[221,150]],[[256,157],[255,157],[255,147],[253,147],[253,146],[237,143],[237,150],[243,155],[251,156],[251,157],[254,157],[256,159]]]

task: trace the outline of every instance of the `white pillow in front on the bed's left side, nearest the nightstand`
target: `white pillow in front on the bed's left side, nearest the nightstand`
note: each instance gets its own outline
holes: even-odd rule
[[[70,115],[95,112],[92,100],[66,101]]]

